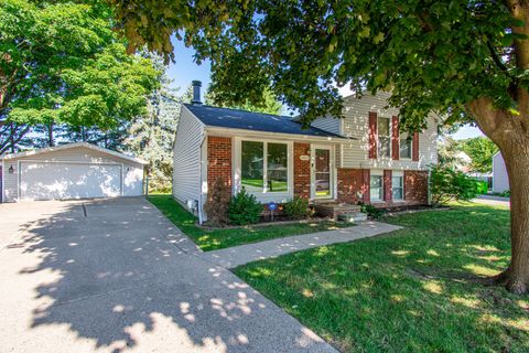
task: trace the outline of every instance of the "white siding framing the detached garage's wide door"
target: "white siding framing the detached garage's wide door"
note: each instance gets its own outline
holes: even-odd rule
[[[122,165],[123,170],[123,196],[143,194],[143,165],[141,163],[136,163],[133,161],[128,161],[119,157],[79,146],[4,160],[3,202],[18,201],[19,168],[20,163],[23,161],[119,164],[120,167]],[[13,167],[13,173],[9,173],[10,167]]]

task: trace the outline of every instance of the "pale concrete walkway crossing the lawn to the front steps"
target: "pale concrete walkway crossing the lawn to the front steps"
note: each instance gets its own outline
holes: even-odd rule
[[[304,250],[323,245],[347,243],[401,228],[402,227],[397,225],[380,222],[364,222],[349,228],[296,235],[208,252],[201,254],[199,257],[217,266],[234,268],[240,265],[264,258],[281,256],[288,253]]]

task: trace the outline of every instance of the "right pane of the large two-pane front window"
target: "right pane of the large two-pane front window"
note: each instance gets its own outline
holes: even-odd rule
[[[268,143],[267,153],[267,190],[269,192],[287,192],[289,184],[287,182],[287,145]]]

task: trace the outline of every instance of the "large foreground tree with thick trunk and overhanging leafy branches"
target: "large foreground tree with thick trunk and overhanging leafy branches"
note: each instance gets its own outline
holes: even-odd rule
[[[529,291],[529,2],[111,0],[129,51],[172,56],[171,34],[212,61],[227,104],[272,90],[304,121],[342,116],[338,86],[391,90],[401,128],[471,121],[501,151],[511,186],[511,260],[496,280]]]

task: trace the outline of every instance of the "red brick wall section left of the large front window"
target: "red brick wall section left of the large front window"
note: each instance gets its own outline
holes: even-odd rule
[[[209,136],[207,138],[207,188],[217,178],[231,186],[231,138]]]

